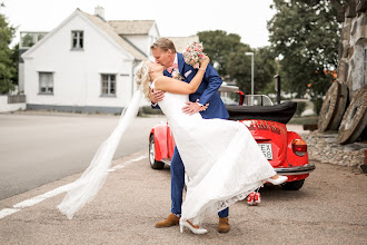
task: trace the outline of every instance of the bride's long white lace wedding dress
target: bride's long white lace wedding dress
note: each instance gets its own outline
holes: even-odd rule
[[[155,81],[151,84],[155,89]],[[182,112],[186,95],[165,94],[158,102],[168,118],[188,175],[181,219],[199,224],[244,199],[276,171],[248,128],[238,121]]]

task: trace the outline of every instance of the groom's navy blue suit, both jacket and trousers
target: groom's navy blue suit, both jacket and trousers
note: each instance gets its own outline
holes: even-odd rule
[[[188,65],[184,60],[182,53],[177,52],[178,69],[181,76],[185,78],[186,82],[190,82],[195,75],[198,72],[192,66]],[[165,76],[171,77],[171,75],[165,70]],[[218,89],[221,86],[222,80],[218,72],[208,65],[205,76],[202,78],[201,85],[195,94],[189,96],[189,100],[196,102],[199,99],[201,105],[209,102],[209,107],[205,111],[200,111],[202,118],[221,118],[227,119],[229,117],[226,106],[221,101]],[[181,157],[175,147],[173,157],[171,160],[171,199],[172,207],[171,213],[181,214],[182,205],[182,192],[185,185],[185,167]],[[228,208],[218,213],[219,217],[228,216]]]

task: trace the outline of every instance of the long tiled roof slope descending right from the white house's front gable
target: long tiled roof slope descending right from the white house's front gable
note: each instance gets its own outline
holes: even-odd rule
[[[105,21],[98,16],[92,16],[78,9],[82,14],[85,14],[91,22],[93,22],[98,28],[105,31],[110,38],[112,38],[122,49],[132,55],[138,60],[147,59],[147,55],[139,50],[137,47],[132,46],[126,39],[121,38],[112,26],[108,21]]]

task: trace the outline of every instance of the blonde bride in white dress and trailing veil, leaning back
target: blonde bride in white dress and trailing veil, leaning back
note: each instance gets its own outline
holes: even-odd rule
[[[189,100],[188,95],[198,89],[208,63],[209,58],[205,57],[190,84],[163,76],[165,68],[151,61],[142,61],[136,75],[137,85],[146,98],[150,98],[153,90],[166,91],[163,100],[158,104],[168,118],[189,179],[180,231],[188,227],[195,234],[207,233],[198,226],[205,216],[246,198],[266,182],[279,185],[287,180],[287,177],[276,174],[244,124],[202,119],[199,112],[191,116],[182,112]],[[141,92],[133,96],[90,166],[70,184],[58,205],[58,209],[69,219],[102,187],[120,138],[138,112],[140,97]]]

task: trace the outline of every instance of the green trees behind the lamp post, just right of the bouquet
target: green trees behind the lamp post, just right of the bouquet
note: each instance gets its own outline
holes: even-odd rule
[[[274,82],[275,61],[268,48],[251,49],[240,42],[236,33],[226,31],[198,32],[204,43],[204,51],[209,56],[218,74],[228,81],[236,81],[246,94],[251,92],[251,57],[245,52],[255,52],[254,84],[255,94],[264,91],[269,82]]]

